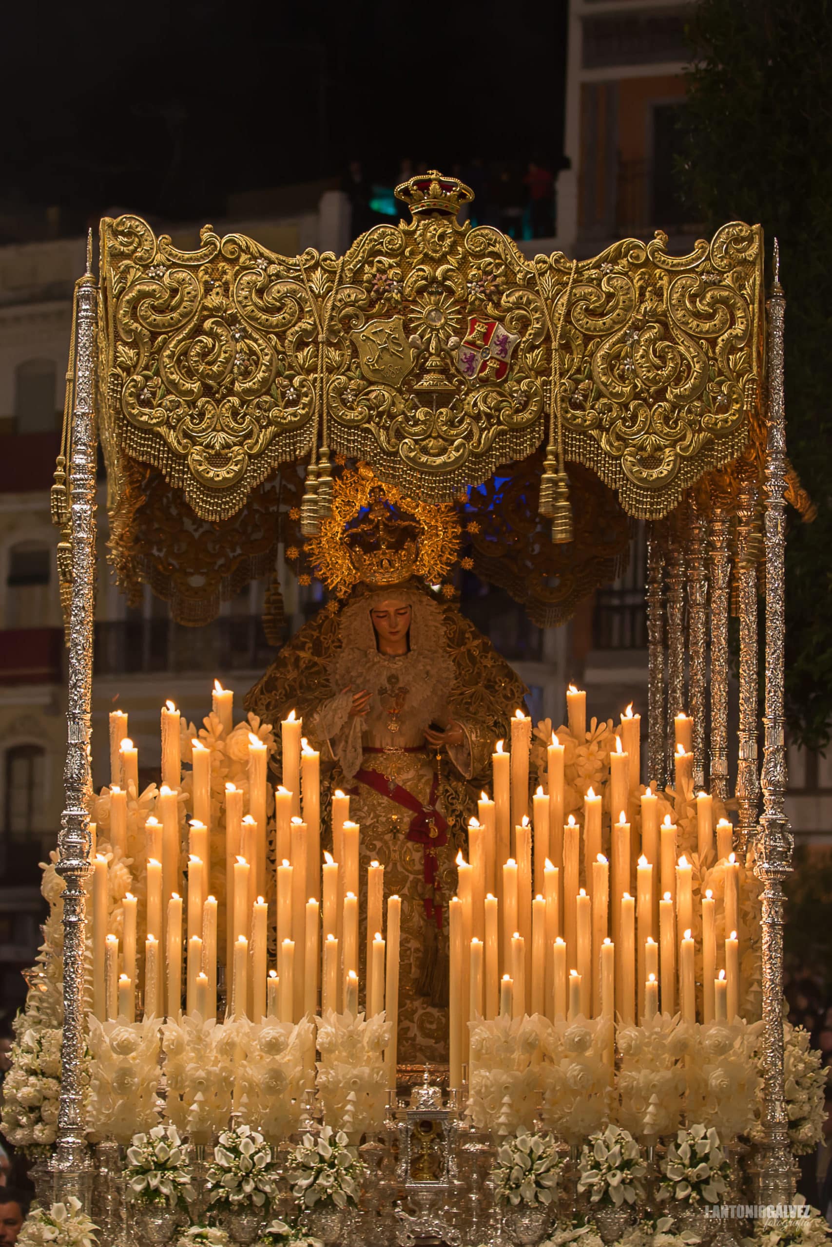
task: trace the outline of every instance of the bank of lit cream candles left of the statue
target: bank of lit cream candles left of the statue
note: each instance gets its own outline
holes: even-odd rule
[[[223,729],[233,727],[233,693],[218,682],[213,711]],[[180,713],[162,710],[162,786],[157,816],[145,822],[146,939],[143,948],[145,1018],[187,1013],[217,1016],[217,981],[222,958],[217,899],[210,892],[211,751],[192,742],[192,812],[187,831],[187,894],[183,899],[181,852]],[[228,1018],[277,1018],[299,1021],[318,1011],[358,1013],[359,1008],[359,834],[349,819],[349,797],[332,801],[334,853],[321,858],[319,754],[302,737],[294,713],[281,725],[283,784],[274,793],[277,964],[268,968],[269,907],[266,900],[267,746],[248,741],[248,813],[244,793],[226,784],[226,932],[225,965]],[[110,715],[110,838],[127,855],[127,792],[138,791],[137,749],[127,737],[127,715]],[[293,784],[288,788],[287,784]],[[92,828],[95,838],[95,827]],[[92,870],[92,1011],[100,1019],[133,1020],[140,978],[138,900],[122,899],[122,935],[109,932],[109,863],[94,848]],[[387,908],[387,914],[384,909]],[[367,1015],[385,1010],[392,1038],[385,1051],[395,1076],[399,995],[399,897],[384,905],[384,868],[367,869]]]

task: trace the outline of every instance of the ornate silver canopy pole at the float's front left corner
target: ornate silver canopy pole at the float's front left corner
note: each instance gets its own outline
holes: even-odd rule
[[[57,1147],[52,1166],[56,1195],[84,1196],[87,1166],[82,1119],[85,1050],[85,888],[90,872],[90,700],[95,589],[95,339],[97,286],[87,271],[76,284],[75,404],[69,463],[72,525],[72,597],[70,609],[67,747],[56,870],[64,879],[64,1040]]]

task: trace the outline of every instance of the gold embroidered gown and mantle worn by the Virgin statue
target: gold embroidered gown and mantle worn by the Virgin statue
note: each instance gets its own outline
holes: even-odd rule
[[[378,651],[370,610],[395,596],[412,607],[409,651]],[[351,716],[353,695],[370,693],[368,713]],[[322,816],[336,788],[351,793],[360,824],[362,930],[365,948],[367,867],[384,867],[384,897],[402,898],[399,1061],[448,1057],[448,900],[454,859],[476,798],[490,787],[494,741],[525,687],[491,643],[415,582],[367,591],[341,611],[324,610],[281,650],[249,691],[248,710],[278,725],[294,708],[321,749]],[[463,743],[437,751],[424,729],[454,720]],[[277,734],[277,733],[276,733]],[[278,736],[279,739],[279,736]],[[327,840],[326,827],[324,840]]]

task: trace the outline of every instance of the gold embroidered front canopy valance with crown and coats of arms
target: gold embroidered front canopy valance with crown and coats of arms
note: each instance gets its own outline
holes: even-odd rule
[[[566,299],[571,262],[526,261],[499,231],[460,224],[470,192],[457,180],[399,195],[413,218],[341,261],[210,226],[185,252],[138,217],[102,221],[116,484],[123,458],[152,464],[218,520],[279,463],[326,446],[449,501],[541,443],[556,373],[566,458],[629,514],[667,513],[738,454],[760,373],[757,227],[725,226],[684,257],[664,236],[616,243],[575,266]]]

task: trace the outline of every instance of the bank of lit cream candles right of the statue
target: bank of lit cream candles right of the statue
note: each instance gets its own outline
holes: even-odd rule
[[[570,734],[585,738],[585,693],[568,692]],[[694,872],[677,855],[677,827],[659,822],[659,797],[640,793],[640,717],[621,716],[610,756],[610,859],[601,852],[601,797],[590,788],[583,826],[564,822],[564,746],[548,747],[548,788],[531,798],[531,722],[511,721],[511,748],[498,742],[491,756],[494,799],[485,794],[468,831],[469,860],[457,859],[457,895],[450,900],[450,1085],[469,1061],[469,1026],[476,1018],[541,1014],[619,1016],[649,1021],[659,1011],[697,1016],[694,930]],[[692,720],[676,717],[676,787],[690,788]],[[639,803],[641,853],[632,884],[632,835],[627,811]],[[712,798],[696,797],[700,860],[713,850]],[[716,826],[716,857],[723,860],[726,938],[717,949],[717,900],[706,889],[701,905],[702,1021],[733,1018],[740,1001],[740,865],[733,828]],[[501,865],[498,865],[501,863]],[[581,887],[581,878],[584,885]],[[723,966],[717,970],[717,953]],[[661,999],[660,999],[661,991]]]

